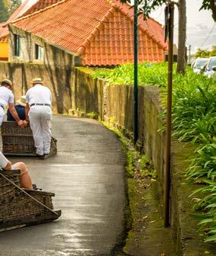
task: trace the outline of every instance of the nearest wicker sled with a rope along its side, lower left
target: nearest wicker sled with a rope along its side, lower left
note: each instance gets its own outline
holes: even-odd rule
[[[53,210],[53,193],[20,187],[19,170],[0,170],[0,232],[51,222],[61,216]]]

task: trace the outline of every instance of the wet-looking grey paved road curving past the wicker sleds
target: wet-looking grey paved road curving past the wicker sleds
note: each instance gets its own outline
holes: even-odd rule
[[[0,233],[0,255],[114,255],[124,231],[125,156],[119,140],[95,120],[56,116],[52,127],[58,154],[21,160],[33,183],[56,193],[54,206],[62,217]]]

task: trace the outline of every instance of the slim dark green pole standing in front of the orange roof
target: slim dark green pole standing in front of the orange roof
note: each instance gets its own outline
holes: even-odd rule
[[[134,2],[134,145],[138,140],[138,1]]]

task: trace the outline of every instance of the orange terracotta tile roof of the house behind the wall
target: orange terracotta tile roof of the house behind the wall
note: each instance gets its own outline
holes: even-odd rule
[[[157,21],[138,18],[139,61],[162,61],[167,44]],[[82,56],[89,66],[133,61],[133,10],[117,0],[65,0],[13,22]]]

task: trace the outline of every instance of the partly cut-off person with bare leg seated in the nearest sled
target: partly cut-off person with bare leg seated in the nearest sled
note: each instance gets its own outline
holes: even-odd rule
[[[12,165],[11,162],[7,158],[5,158],[5,155],[3,155],[2,152],[0,151],[0,168],[5,169],[6,171],[21,170],[21,175],[20,175],[21,187],[27,188],[30,190],[33,189],[30,174],[27,170],[27,165],[25,165],[24,162],[17,162],[17,163],[14,163],[14,165]]]

